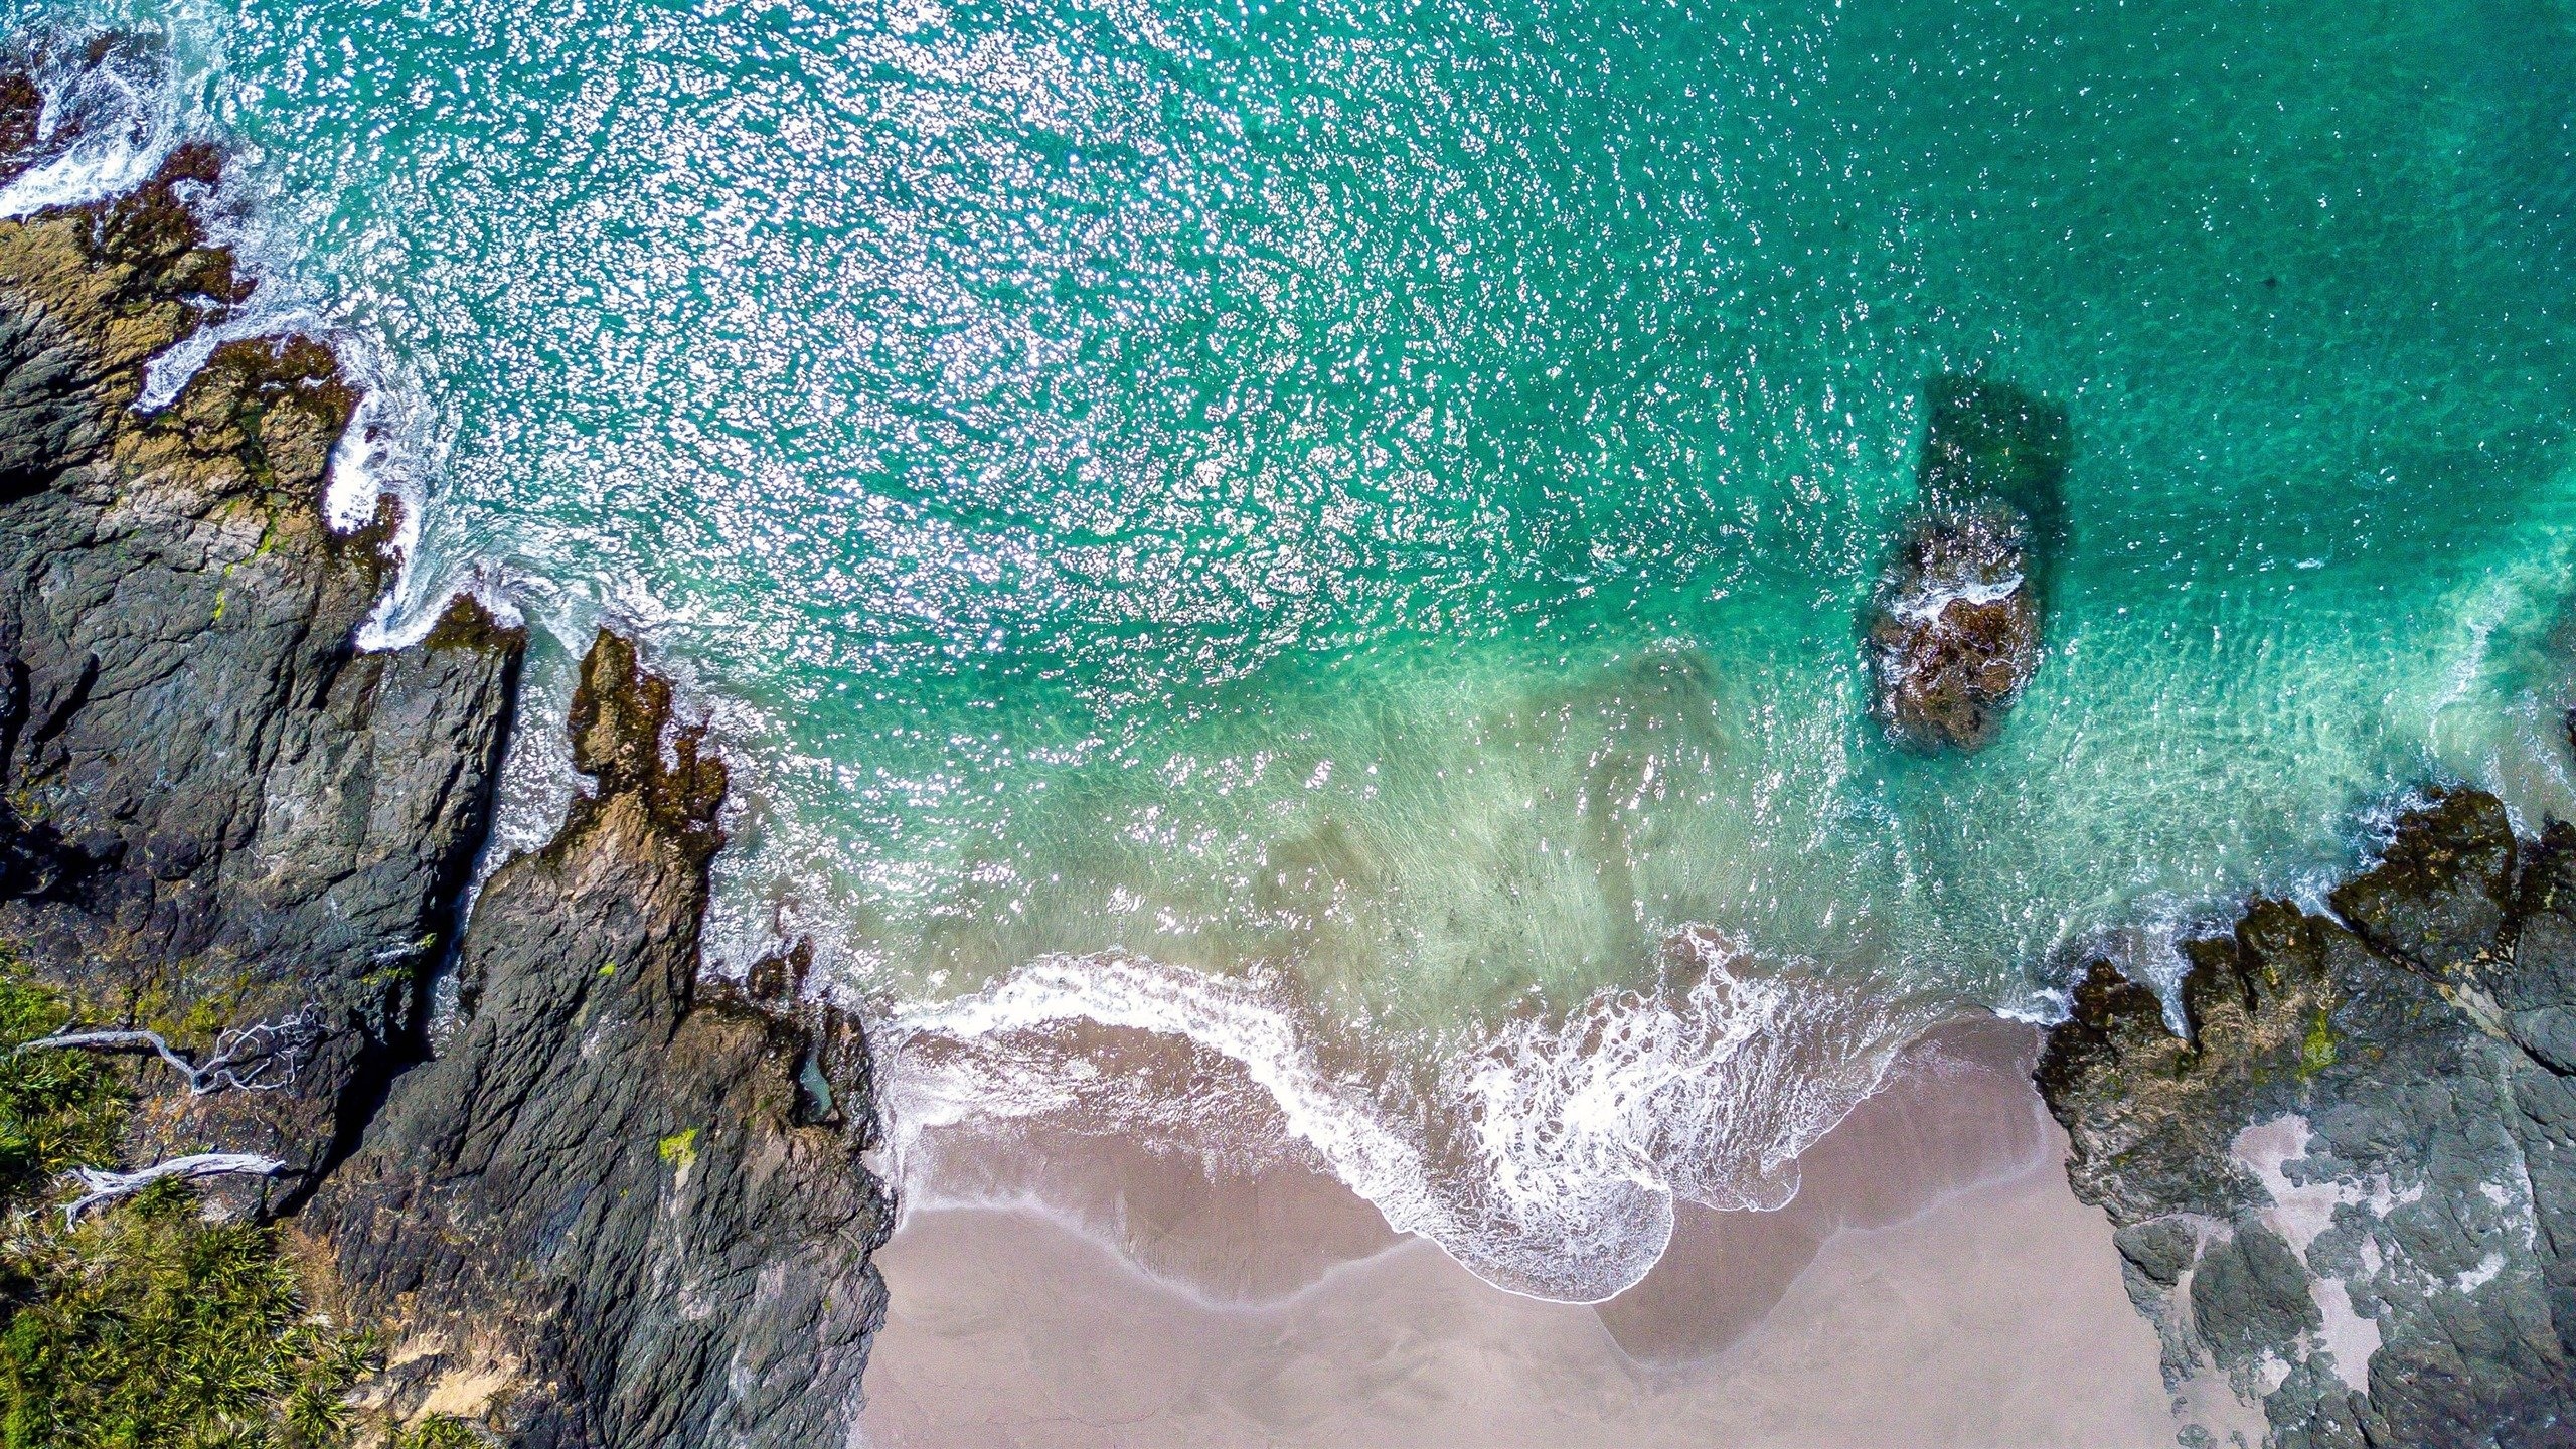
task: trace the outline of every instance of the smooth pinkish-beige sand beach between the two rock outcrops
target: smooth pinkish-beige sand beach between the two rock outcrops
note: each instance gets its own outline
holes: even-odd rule
[[[907,1214],[881,1446],[2172,1444],[2030,1031],[1935,1034],[1780,1212],[1690,1212],[1605,1305],[1486,1287],[1329,1178],[1033,1150]],[[948,1186],[948,1183],[943,1183]]]

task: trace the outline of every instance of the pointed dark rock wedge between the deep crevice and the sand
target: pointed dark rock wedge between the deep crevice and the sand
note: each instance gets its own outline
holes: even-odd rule
[[[889,1212],[868,1060],[698,982],[724,768],[659,743],[670,691],[600,634],[572,704],[598,781],[492,874],[474,1016],[399,1083],[307,1214],[392,1336],[397,1408],[513,1444],[845,1444]],[[760,972],[793,993],[786,962]],[[495,1395],[495,1387],[505,1392]]]

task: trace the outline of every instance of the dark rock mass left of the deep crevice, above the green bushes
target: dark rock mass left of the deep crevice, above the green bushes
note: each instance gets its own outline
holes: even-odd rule
[[[283,1158],[291,1201],[417,1057],[523,637],[459,601],[425,647],[355,650],[392,503],[322,521],[330,348],[229,343],[134,413],[144,361],[245,294],[180,201],[214,173],[191,147],[0,222],[0,936],[193,1044],[296,1018],[286,1088],[165,1098],[137,1145]]]

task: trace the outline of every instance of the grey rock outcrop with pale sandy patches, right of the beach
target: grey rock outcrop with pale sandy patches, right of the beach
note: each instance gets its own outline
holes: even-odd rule
[[[2184,944],[2179,1008],[2092,962],[2040,1093],[2172,1382],[2282,1446],[2576,1444],[2576,828],[2439,792],[2331,915]]]

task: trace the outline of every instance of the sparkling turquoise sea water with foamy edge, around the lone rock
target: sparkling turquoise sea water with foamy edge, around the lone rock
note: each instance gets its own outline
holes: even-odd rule
[[[1092,1091],[1048,1024],[1190,1034],[1587,1297],[1659,1194],[1777,1199],[1904,1021],[2045,1011],[2421,779],[2568,802],[2555,3],[10,10],[167,36],[428,498],[404,614],[471,578],[693,683],[719,954],[1020,1034],[951,1116]],[[1942,369],[2076,441],[1973,758],[1878,735],[1855,632]],[[1837,1006],[1654,990],[1716,936]]]

